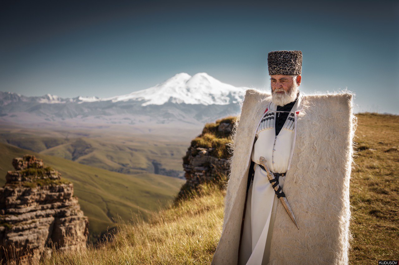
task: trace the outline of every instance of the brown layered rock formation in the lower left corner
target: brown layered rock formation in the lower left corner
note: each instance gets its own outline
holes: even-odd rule
[[[83,215],[73,184],[34,156],[14,158],[0,188],[0,259],[39,261],[52,247],[86,247],[88,218]]]

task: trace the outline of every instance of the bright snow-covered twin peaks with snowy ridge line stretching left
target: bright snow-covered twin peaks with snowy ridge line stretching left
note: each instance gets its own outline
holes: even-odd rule
[[[106,98],[96,96],[61,98],[51,94],[40,97],[26,97],[12,92],[0,92],[0,105],[8,105],[15,101],[36,101],[48,104],[140,101],[142,102],[142,106],[163,105],[168,102],[178,104],[228,105],[231,103],[235,104],[243,99],[246,89],[245,87],[235,87],[225,84],[207,73],[197,73],[191,76],[183,72],[151,88]]]

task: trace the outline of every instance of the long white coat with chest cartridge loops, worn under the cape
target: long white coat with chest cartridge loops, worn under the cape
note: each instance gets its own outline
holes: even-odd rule
[[[303,98],[304,95],[300,93],[288,115],[293,120],[287,118],[277,136],[275,117],[279,113],[276,112],[277,105],[273,102],[267,106],[264,118],[257,129],[257,139],[251,155],[252,161],[256,163],[255,175],[247,195],[239,264],[267,264],[269,259],[272,228],[279,199],[275,195],[266,172],[257,164],[260,164],[259,157],[263,156],[267,161],[267,167],[272,172],[285,173],[288,171],[294,150],[296,114],[303,108],[301,104]],[[265,119],[265,117],[269,117],[269,119]],[[284,179],[285,176],[279,179],[281,188],[284,187]],[[267,247],[265,248],[265,246]]]

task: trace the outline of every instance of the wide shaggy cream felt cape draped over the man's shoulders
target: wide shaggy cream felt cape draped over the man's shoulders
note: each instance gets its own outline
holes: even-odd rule
[[[250,156],[271,95],[247,90],[233,130],[224,223],[212,264],[237,264]],[[279,203],[269,264],[347,264],[349,182],[356,117],[352,94],[306,95],[297,115],[284,193],[299,230]]]

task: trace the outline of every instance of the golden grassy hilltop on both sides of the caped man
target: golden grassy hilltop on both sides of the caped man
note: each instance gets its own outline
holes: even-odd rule
[[[359,114],[358,156],[350,201],[350,264],[399,257],[399,116]],[[209,264],[221,233],[224,191],[202,187],[195,196],[149,221],[119,226],[99,248],[56,253],[46,264]]]

